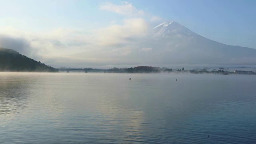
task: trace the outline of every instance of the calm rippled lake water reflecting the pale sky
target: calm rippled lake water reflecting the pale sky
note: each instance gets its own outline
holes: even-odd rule
[[[0,73],[0,143],[254,144],[256,77]]]

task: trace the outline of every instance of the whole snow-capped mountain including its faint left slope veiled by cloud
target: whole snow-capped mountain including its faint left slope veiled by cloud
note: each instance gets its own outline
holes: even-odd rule
[[[174,64],[255,65],[256,49],[230,46],[204,38],[178,22],[163,22],[143,36],[111,48],[74,54],[106,65],[168,66]]]

